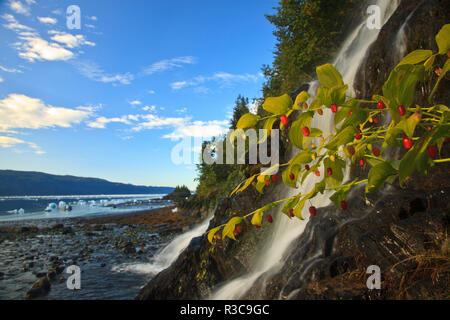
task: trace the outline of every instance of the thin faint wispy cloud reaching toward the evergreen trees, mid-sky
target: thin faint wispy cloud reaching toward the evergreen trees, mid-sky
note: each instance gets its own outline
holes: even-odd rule
[[[258,74],[232,74],[228,72],[216,72],[212,76],[197,76],[191,81],[176,81],[170,84],[173,90],[180,90],[185,87],[196,87],[196,91],[200,93],[208,93],[209,89],[201,86],[206,82],[215,82],[220,88],[232,87],[236,83],[256,82],[261,75]]]

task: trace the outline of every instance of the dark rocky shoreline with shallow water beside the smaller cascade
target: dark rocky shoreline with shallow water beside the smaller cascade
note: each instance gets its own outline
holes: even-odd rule
[[[113,269],[148,262],[174,236],[198,222],[173,209],[1,222],[0,299],[134,298],[149,275]],[[81,268],[82,290],[66,287],[70,274],[65,269],[70,265]]]

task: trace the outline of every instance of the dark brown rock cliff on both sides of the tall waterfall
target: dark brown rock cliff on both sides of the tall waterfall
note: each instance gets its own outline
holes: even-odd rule
[[[381,93],[389,71],[399,62],[392,52],[406,24],[406,51],[432,48],[445,24],[449,0],[407,1],[399,5],[370,48],[357,77],[361,97]],[[421,84],[427,92],[429,84]],[[435,99],[448,105],[449,82],[441,83]],[[418,97],[418,101],[421,97]],[[443,157],[449,157],[450,144]],[[255,281],[248,299],[433,299],[450,298],[449,240],[450,165],[433,167],[427,177],[415,176],[407,188],[387,187],[366,196],[355,189],[343,214],[329,206],[317,211],[305,231],[290,246],[285,263],[270,278]],[[283,186],[261,197],[252,188],[222,202],[210,227],[229,219],[230,212],[246,214],[276,199]],[[274,212],[272,212],[274,214]],[[153,278],[137,299],[202,299],[212,288],[249,271],[256,248],[272,231],[246,225],[240,240],[218,241],[206,235],[193,239],[167,270]],[[381,269],[381,290],[368,290],[366,269]]]

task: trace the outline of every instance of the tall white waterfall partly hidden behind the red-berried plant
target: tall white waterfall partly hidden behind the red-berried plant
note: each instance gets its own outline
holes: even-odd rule
[[[384,25],[397,8],[399,1],[391,0],[378,0],[374,1],[381,9],[382,24]],[[362,21],[353,30],[347,39],[344,41],[341,50],[339,51],[334,66],[341,72],[344,78],[344,82],[349,85],[347,94],[354,95],[353,81],[360,64],[362,63],[364,56],[366,55],[369,46],[377,39],[380,30],[369,30],[366,25],[366,20]],[[316,95],[318,82],[314,81],[310,85],[309,93],[313,96]],[[331,110],[326,109],[322,116],[315,114],[311,127],[320,128],[323,132],[332,132],[333,125],[333,113]],[[316,141],[317,142],[317,141]],[[314,143],[316,143],[314,142]],[[298,150],[293,151],[291,156],[294,156]],[[321,172],[321,176],[323,176]],[[348,177],[348,172],[345,174]],[[280,198],[285,196],[293,196],[301,193],[309,192],[320,180],[314,175],[309,175],[304,183],[297,189],[289,189],[285,186],[281,186],[279,190]],[[324,207],[330,204],[330,193],[324,193],[317,195],[311,204],[316,207]],[[305,205],[302,216],[309,216],[308,205]],[[239,299],[243,297],[258,278],[263,280],[270,279],[284,263],[285,253],[288,251],[291,243],[302,234],[308,220],[289,219],[286,215],[277,212],[275,216],[273,231],[268,239],[265,239],[264,245],[259,249],[258,257],[253,265],[252,271],[237,279],[230,280],[229,282],[220,285],[212,293],[212,299]]]

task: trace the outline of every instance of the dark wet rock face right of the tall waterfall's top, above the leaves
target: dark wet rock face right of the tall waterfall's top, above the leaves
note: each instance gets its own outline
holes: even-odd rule
[[[404,31],[404,55],[416,49],[429,49],[437,52],[435,35],[448,23],[450,0],[402,0],[390,20],[380,30],[377,40],[372,44],[357,73],[354,87],[359,97],[370,98],[373,94],[382,94],[382,86],[391,70],[400,62],[400,44],[398,37],[402,26]],[[445,60],[438,59],[438,63]],[[432,79],[433,83],[437,77]],[[436,101],[449,101],[449,81],[444,80],[437,91]],[[422,84],[424,92],[431,92],[431,84]],[[421,97],[417,97],[421,100]],[[423,99],[419,103],[425,103]]]

